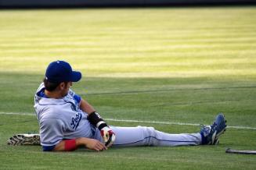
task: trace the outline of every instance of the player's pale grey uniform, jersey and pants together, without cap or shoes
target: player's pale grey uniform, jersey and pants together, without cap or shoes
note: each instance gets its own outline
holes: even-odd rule
[[[41,83],[34,97],[34,109],[38,116],[43,151],[52,151],[57,143],[65,139],[88,137],[103,142],[99,129],[92,126],[87,113],[79,108],[81,97],[69,90],[67,96],[54,99],[45,96]],[[200,133],[169,134],[153,127],[115,127],[114,147],[132,146],[181,146],[201,143]]]

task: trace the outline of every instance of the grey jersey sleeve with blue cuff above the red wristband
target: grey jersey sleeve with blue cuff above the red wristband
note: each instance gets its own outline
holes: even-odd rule
[[[40,122],[40,140],[43,151],[52,151],[63,140],[65,124],[61,119],[45,118]]]

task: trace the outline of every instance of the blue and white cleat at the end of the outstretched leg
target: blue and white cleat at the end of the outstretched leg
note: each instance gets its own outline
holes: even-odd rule
[[[226,122],[225,116],[220,113],[211,126],[203,126],[200,130],[202,144],[218,144],[218,137],[225,132]]]

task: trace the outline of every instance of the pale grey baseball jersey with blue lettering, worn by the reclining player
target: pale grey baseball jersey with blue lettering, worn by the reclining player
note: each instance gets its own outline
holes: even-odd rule
[[[68,91],[61,99],[48,98],[41,83],[34,97],[34,109],[40,126],[41,145],[45,151],[52,150],[60,140],[81,136],[92,137],[87,114],[79,108],[81,97]]]

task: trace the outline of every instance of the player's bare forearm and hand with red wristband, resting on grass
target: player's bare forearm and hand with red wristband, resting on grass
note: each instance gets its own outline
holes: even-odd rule
[[[53,149],[53,151],[74,151],[78,147],[86,147],[95,151],[104,151],[107,148],[99,140],[80,137],[73,140],[61,140]]]

